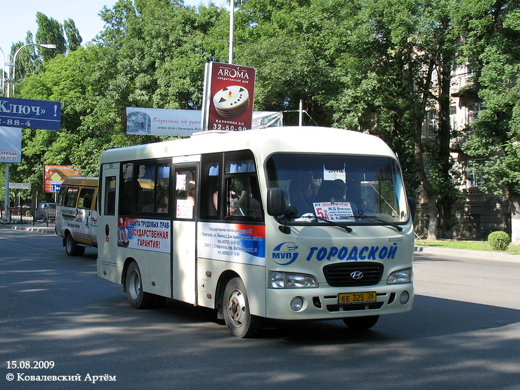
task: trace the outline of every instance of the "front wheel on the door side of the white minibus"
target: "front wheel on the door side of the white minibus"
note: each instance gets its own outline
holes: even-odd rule
[[[242,279],[231,279],[224,290],[224,321],[229,332],[237,337],[254,337],[261,327],[261,319],[251,315],[248,294]]]

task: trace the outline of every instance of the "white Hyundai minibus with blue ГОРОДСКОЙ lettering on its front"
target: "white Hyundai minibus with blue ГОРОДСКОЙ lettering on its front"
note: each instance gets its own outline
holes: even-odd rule
[[[364,330],[412,308],[415,203],[376,136],[278,127],[110,149],[98,199],[98,275],[136,308],[213,308],[238,337],[264,318]]]

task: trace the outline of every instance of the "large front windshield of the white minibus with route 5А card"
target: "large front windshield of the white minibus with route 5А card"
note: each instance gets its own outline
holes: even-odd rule
[[[269,188],[282,188],[294,222],[405,223],[399,165],[388,157],[277,153],[266,161]]]

